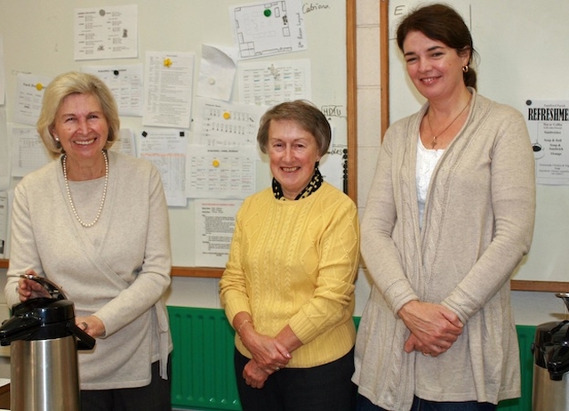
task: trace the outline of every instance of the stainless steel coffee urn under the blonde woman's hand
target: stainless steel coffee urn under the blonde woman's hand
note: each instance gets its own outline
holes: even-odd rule
[[[22,276],[44,286],[45,297],[12,307],[0,327],[0,344],[10,345],[11,411],[80,411],[77,350],[95,340],[75,324],[75,310],[59,286],[46,278]]]

